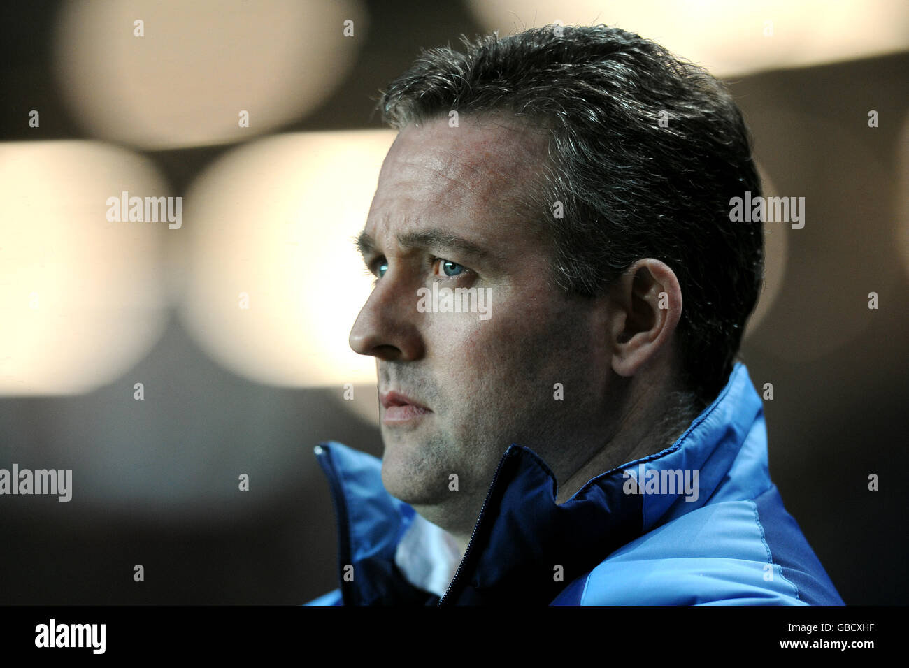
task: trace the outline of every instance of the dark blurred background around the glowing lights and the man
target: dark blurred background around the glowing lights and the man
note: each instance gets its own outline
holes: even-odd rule
[[[370,29],[345,83],[280,132],[378,127],[372,98],[419,47],[484,32],[456,2],[366,7]],[[5,141],[87,138],[51,73],[57,8],[0,9]],[[779,293],[742,358],[758,389],[774,384],[774,401],[765,402],[774,482],[851,604],[909,598],[906,72],[903,53],[728,82],[765,174],[779,194],[808,203],[804,229],[787,237]],[[42,110],[40,135],[24,120],[32,108]],[[880,114],[876,129],[867,126],[870,109]],[[144,153],[181,194],[227,148]],[[872,291],[876,311],[867,308]],[[128,389],[135,377],[166,388],[165,401],[141,419]],[[172,317],[120,382],[73,397],[0,396],[0,467],[25,467],[60,444],[75,464],[103,466],[80,454],[104,442],[116,456],[117,444],[130,443],[175,462],[205,452],[213,466],[254,481],[234,501],[206,494],[224,482],[205,466],[184,472],[198,494],[179,502],[166,480],[145,503],[2,497],[0,603],[295,604],[334,588],[333,510],[313,446],[334,439],[381,454],[378,429],[340,410],[340,393],[247,381],[212,361]],[[868,491],[869,474],[880,476],[879,491]],[[133,582],[135,563],[144,564],[145,583]]]

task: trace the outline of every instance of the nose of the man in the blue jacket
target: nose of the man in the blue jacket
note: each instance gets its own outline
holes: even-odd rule
[[[350,347],[355,353],[380,360],[418,359],[424,347],[415,323],[416,303],[415,290],[393,283],[385,274],[356,316],[348,339]]]

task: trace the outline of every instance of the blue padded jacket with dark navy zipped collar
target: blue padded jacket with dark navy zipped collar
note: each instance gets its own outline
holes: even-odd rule
[[[341,587],[308,604],[843,604],[770,481],[764,408],[741,363],[673,445],[561,505],[546,464],[511,445],[450,583],[450,536],[385,492],[380,460],[315,450]]]

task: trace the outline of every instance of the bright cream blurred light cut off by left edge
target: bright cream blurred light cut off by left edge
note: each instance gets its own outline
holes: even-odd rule
[[[165,196],[149,161],[94,142],[0,144],[0,394],[81,394],[163,331],[165,223],[109,222],[108,197]]]

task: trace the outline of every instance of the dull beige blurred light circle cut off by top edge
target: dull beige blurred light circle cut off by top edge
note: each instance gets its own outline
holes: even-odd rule
[[[92,135],[146,149],[224,144],[325,101],[365,30],[355,0],[70,1],[56,22],[55,69]]]

